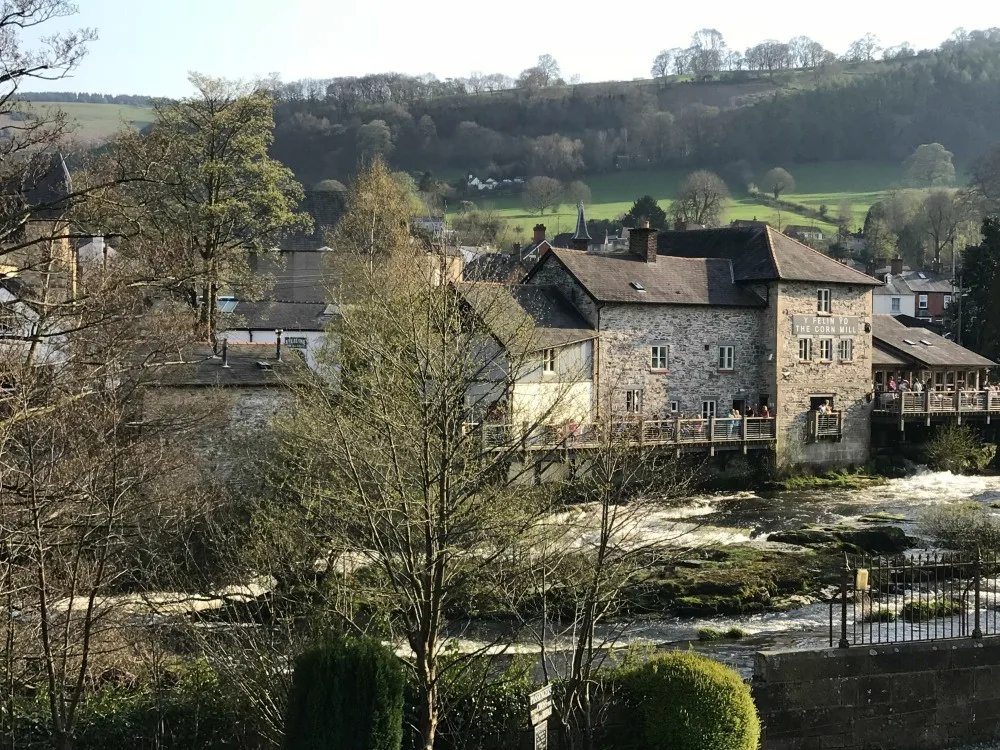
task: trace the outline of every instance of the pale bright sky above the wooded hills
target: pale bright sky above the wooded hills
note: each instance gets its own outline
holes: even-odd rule
[[[871,31],[885,46],[936,47],[958,27],[1000,23],[992,0],[714,0],[683,3],[503,0],[77,0],[44,27],[90,27],[98,40],[73,77],[39,91],[184,96],[189,71],[285,81],[395,71],[441,79],[472,71],[516,76],[551,54],[567,79],[649,77],[656,53],[701,28],[740,50],[805,34],[841,54]],[[616,10],[624,10],[616,14]]]

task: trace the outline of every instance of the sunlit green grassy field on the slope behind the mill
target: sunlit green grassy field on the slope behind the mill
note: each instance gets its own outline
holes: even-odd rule
[[[828,162],[821,164],[806,164],[788,168],[795,177],[796,192],[784,194],[793,203],[801,203],[815,209],[826,205],[831,218],[837,216],[838,209],[845,200],[851,202],[854,212],[854,222],[860,226],[864,222],[865,213],[872,203],[879,200],[886,191],[895,187],[901,176],[899,164],[869,164],[865,162]],[[612,172],[610,174],[584,177],[584,182],[590,186],[593,203],[587,209],[591,219],[614,219],[628,211],[632,202],[641,195],[652,195],[664,210],[670,208],[670,196],[676,190],[688,170],[648,170],[631,172]],[[833,224],[818,222],[800,214],[781,211],[780,221],[778,211],[770,206],[758,203],[744,191],[737,191],[735,186],[730,199],[725,220],[758,219],[768,221],[772,225],[788,224],[816,225],[827,231],[834,231]],[[541,221],[549,228],[549,235],[572,231],[576,223],[576,208],[564,205],[555,213],[547,212],[539,217],[529,214],[521,206],[519,196],[506,196],[495,200],[481,199],[482,203],[490,203],[497,211],[506,216],[514,225],[521,225],[526,230]]]

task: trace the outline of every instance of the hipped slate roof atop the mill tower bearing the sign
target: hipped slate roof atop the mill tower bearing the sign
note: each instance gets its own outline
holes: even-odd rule
[[[727,259],[733,264],[736,281],[881,284],[770,226],[661,232],[657,252],[661,256]]]

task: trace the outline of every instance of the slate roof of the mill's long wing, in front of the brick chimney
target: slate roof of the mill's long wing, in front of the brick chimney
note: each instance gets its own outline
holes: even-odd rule
[[[732,265],[725,258],[659,256],[655,263],[646,263],[631,254],[554,249],[545,254],[536,269],[556,262],[597,302],[729,307],[766,304],[752,291],[733,282]]]

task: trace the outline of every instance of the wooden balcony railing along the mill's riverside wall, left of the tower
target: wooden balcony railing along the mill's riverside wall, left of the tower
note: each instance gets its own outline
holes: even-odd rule
[[[630,419],[609,423],[517,425],[470,422],[488,448],[596,448],[625,442],[637,445],[722,445],[773,441],[773,417]]]

